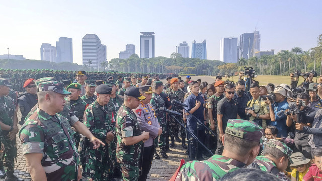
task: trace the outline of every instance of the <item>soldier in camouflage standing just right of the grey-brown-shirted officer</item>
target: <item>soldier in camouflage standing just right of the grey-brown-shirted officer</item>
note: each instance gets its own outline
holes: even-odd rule
[[[166,154],[166,137],[167,137],[167,121],[166,121],[166,113],[163,111],[160,111],[159,109],[161,107],[166,108],[165,106],[165,101],[162,99],[160,96],[160,93],[162,92],[163,85],[162,81],[154,81],[152,90],[152,99],[150,101],[151,105],[155,109],[155,114],[157,116],[158,122],[162,128],[162,134],[159,136],[159,140],[155,139],[156,144],[159,145],[160,147],[160,154],[162,155],[163,158],[168,158],[168,155]]]

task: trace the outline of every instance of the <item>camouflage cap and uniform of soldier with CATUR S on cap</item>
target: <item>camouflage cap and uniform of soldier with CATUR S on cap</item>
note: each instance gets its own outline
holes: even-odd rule
[[[257,124],[239,119],[230,119],[226,133],[248,141],[260,142],[264,130]],[[205,161],[189,161],[181,168],[176,177],[179,180],[219,180],[225,174],[238,168],[245,167],[245,163],[221,155],[213,155]]]

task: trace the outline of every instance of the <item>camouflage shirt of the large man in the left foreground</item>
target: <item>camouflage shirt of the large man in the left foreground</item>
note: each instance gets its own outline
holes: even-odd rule
[[[38,108],[20,129],[22,153],[44,155],[41,164],[47,180],[77,180],[79,157],[73,134],[65,117]]]

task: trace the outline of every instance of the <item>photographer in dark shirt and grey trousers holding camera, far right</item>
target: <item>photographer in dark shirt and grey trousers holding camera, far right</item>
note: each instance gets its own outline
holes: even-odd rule
[[[299,93],[297,95],[297,105],[299,107],[299,120],[297,120],[297,114],[296,111],[298,112],[298,108],[295,108],[294,111],[288,111],[285,113],[290,113],[287,114],[287,119],[286,119],[286,124],[288,127],[291,127],[292,125],[296,124],[301,124],[302,126],[308,126],[310,127],[311,124],[313,123],[314,116],[316,111],[310,107],[307,107],[306,105],[308,104],[309,101],[309,96],[306,93]],[[293,114],[293,113],[295,114]],[[294,137],[294,144],[295,144],[295,149],[294,152],[301,152],[304,154],[306,158],[311,159],[311,147],[308,144],[308,133],[305,133],[303,130],[295,130],[295,137]]]

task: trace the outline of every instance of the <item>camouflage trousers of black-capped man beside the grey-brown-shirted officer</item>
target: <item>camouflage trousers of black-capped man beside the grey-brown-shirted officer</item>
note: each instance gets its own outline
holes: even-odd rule
[[[143,148],[142,148],[143,149]],[[139,178],[139,166],[136,164],[124,164],[120,163],[122,168],[122,178],[124,181],[136,181]]]

